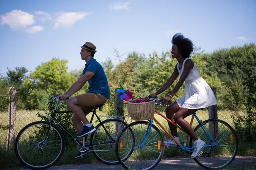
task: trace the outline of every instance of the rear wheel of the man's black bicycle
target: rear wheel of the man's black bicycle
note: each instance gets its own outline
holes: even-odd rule
[[[111,138],[108,136],[107,132],[105,131],[104,127],[106,128],[109,135],[114,139],[111,142]],[[118,164],[118,160],[116,159],[116,152],[115,152],[115,143],[118,134],[123,130],[123,128],[127,125],[127,123],[119,120],[119,119],[107,119],[96,126],[96,130],[92,133],[90,137],[90,144],[100,143],[100,142],[107,142],[105,144],[98,144],[93,146],[91,149],[93,150],[92,153],[96,159],[104,164]],[[132,133],[132,131],[129,131]],[[132,140],[132,139],[131,139]]]

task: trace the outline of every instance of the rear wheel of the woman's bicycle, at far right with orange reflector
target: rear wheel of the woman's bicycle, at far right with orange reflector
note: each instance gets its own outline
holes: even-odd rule
[[[238,150],[238,139],[234,129],[227,123],[219,119],[209,119],[204,121],[202,125],[195,127],[195,133],[207,145],[213,144],[209,139],[209,134],[212,139],[217,142],[215,146],[205,147],[204,153],[200,157],[195,157],[195,161],[207,169],[220,169],[230,164],[236,156]],[[190,147],[193,146],[193,140],[190,139]]]

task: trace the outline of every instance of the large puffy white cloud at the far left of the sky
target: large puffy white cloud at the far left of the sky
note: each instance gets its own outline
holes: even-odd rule
[[[21,28],[25,28],[26,26],[35,23],[32,14],[17,9],[7,12],[5,15],[1,15],[0,20],[2,26],[7,24],[13,31],[19,31]]]

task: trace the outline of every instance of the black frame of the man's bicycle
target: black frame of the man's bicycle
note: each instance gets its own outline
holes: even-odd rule
[[[55,114],[56,114],[56,113],[73,113],[72,111],[57,111],[57,107],[58,107],[58,103],[59,103],[59,102],[60,102],[60,101],[58,101],[58,100],[56,101],[56,105],[55,105],[55,108],[54,108],[53,113],[52,113],[52,115],[51,115],[50,125],[49,125],[48,131],[47,131],[47,133],[46,133],[46,137],[44,138],[44,140],[43,140],[42,142],[40,142],[41,144],[44,144],[44,142],[47,140],[47,138],[48,138],[48,136],[49,136],[49,133],[50,133],[50,129],[51,129],[51,125],[52,125],[53,121],[55,121],[58,125],[60,125],[61,128],[63,128],[63,129],[74,139],[74,141],[76,141],[76,142],[79,144],[79,146],[82,147],[82,148],[85,148],[85,147],[92,147],[92,146],[96,146],[96,145],[99,145],[99,144],[111,143],[111,142],[114,142],[114,141],[115,141],[115,140],[111,137],[111,135],[108,133],[108,130],[105,128],[105,126],[102,124],[102,122],[101,122],[99,116],[96,114],[96,108],[94,108],[93,111],[84,111],[84,113],[91,113],[91,112],[93,113],[93,116],[92,116],[91,119],[90,119],[90,123],[93,122],[93,117],[94,117],[94,115],[97,117],[99,123],[100,123],[100,124],[102,125],[102,127],[104,128],[104,130],[105,130],[105,132],[107,133],[107,135],[108,135],[108,137],[109,137],[110,140],[108,140],[108,141],[106,141],[106,142],[100,142],[100,143],[95,143],[95,144],[87,144],[87,145],[84,145],[84,146],[83,146],[83,144],[82,144],[75,136],[73,136],[73,134],[70,133],[70,131],[67,130],[67,128],[64,127],[64,125],[62,125],[60,121],[58,121],[58,119],[55,118]],[[86,140],[86,138],[87,138],[87,135],[84,136],[84,141]]]

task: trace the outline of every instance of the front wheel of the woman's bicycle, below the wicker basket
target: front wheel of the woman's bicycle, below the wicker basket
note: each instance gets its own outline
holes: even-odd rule
[[[118,136],[116,156],[125,169],[151,170],[162,159],[163,136],[155,125],[152,125],[149,134],[146,133],[148,127],[148,122],[133,122],[126,126]],[[132,134],[129,133],[130,129],[133,131]]]

